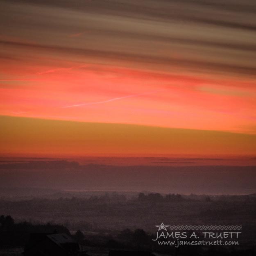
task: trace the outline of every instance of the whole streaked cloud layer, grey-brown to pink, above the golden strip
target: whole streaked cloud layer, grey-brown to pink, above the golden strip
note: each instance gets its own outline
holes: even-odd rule
[[[255,10],[253,0],[2,1],[0,114],[255,134]]]

